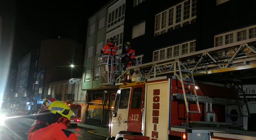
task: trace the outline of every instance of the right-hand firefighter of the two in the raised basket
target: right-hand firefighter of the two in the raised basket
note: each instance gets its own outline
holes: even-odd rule
[[[136,59],[135,59],[135,51],[132,48],[131,43],[130,42],[126,42],[124,44],[124,47],[125,47],[127,53],[126,54],[122,54],[121,57],[122,58],[125,57],[125,59],[126,59],[126,66],[125,67],[127,68],[127,67],[130,67],[130,66],[135,66],[135,61],[136,61]]]

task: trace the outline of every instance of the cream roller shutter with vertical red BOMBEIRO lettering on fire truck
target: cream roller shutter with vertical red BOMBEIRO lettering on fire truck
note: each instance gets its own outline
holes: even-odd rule
[[[168,140],[170,82],[146,83],[145,135],[150,140]]]

